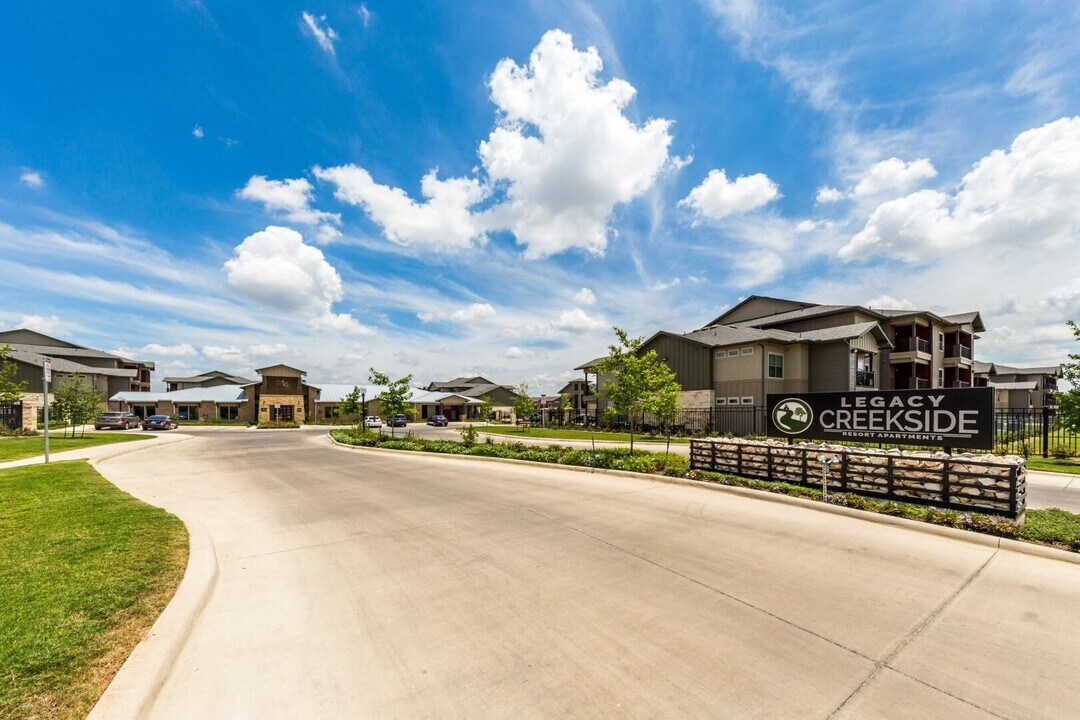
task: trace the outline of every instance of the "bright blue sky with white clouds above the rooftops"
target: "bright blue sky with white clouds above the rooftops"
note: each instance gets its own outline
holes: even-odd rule
[[[0,325],[161,375],[553,392],[751,293],[1080,318],[1072,2],[56,3],[0,29]]]

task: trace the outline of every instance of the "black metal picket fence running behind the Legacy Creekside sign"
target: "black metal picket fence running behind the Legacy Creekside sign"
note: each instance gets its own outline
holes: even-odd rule
[[[634,418],[635,432],[677,436],[705,437],[730,435],[734,437],[764,436],[767,408],[760,405],[718,405],[714,408],[687,408],[674,421],[659,422],[649,415]],[[626,416],[585,416],[577,412],[550,410],[537,422],[564,427],[598,427],[626,432]],[[1024,457],[1080,456],[1080,434],[1065,427],[1055,408],[999,409],[994,411],[994,452]],[[866,445],[866,444],[863,444]],[[897,447],[868,444],[870,447]],[[940,449],[940,448],[932,448]],[[966,448],[955,448],[962,450]],[[987,452],[983,450],[982,452]]]

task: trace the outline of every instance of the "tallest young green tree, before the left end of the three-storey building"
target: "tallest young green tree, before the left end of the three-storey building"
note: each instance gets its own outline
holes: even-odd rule
[[[674,416],[681,388],[675,373],[658,356],[657,351],[642,352],[644,340],[631,338],[616,327],[619,342],[608,347],[608,356],[597,366],[597,375],[611,375],[612,379],[599,395],[630,420],[630,449],[634,449],[634,426],[637,418],[646,412]],[[660,410],[660,412],[658,412]]]

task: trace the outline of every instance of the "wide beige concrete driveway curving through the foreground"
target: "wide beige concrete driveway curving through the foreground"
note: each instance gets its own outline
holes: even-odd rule
[[[154,718],[1062,718],[1080,565],[700,487],[193,433],[100,464],[212,538]]]

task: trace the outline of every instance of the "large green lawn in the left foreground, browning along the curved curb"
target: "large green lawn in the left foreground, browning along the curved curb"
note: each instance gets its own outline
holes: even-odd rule
[[[0,718],[84,718],[187,555],[180,520],[85,461],[0,471]]]

